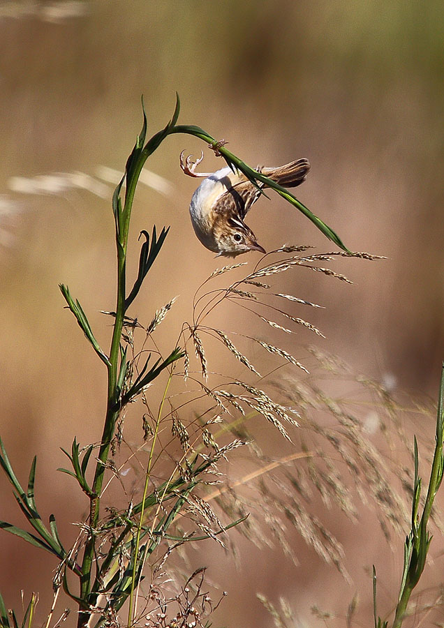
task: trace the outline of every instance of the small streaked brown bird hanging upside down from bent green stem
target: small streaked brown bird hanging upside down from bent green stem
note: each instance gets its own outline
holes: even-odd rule
[[[242,172],[235,174],[230,167],[212,174],[195,172],[202,158],[203,154],[193,162],[191,156],[184,159],[184,151],[180,155],[185,174],[205,177],[190,204],[191,222],[198,239],[218,256],[235,257],[247,251],[265,253],[255,234],[244,223],[247,212],[260,196],[260,190]],[[258,167],[257,170],[284,188],[295,188],[305,181],[310,164],[302,158],[280,167]],[[267,187],[259,181],[258,185]]]

